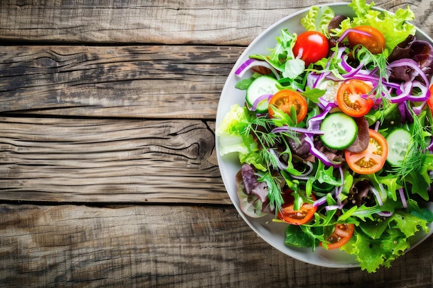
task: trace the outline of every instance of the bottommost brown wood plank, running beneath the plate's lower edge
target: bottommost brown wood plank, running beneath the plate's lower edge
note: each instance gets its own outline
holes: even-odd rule
[[[231,206],[0,204],[2,287],[430,287],[432,244],[368,274],[285,256]]]

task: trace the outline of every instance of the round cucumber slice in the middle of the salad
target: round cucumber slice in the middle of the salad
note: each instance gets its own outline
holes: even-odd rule
[[[355,141],[358,125],[355,120],[342,112],[335,112],[324,117],[320,124],[320,140],[329,148],[342,150]]]

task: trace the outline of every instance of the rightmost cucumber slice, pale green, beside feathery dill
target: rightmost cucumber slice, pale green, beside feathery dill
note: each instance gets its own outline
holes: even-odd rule
[[[405,159],[412,135],[405,128],[395,128],[385,138],[388,143],[387,162],[399,166]]]

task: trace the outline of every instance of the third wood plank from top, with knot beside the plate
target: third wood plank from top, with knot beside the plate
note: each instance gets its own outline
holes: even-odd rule
[[[0,117],[0,199],[229,203],[214,122]]]

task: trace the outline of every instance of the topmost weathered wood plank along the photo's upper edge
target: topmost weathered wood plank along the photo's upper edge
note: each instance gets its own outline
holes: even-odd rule
[[[246,46],[275,21],[333,2],[342,1],[6,0],[0,2],[0,40]],[[375,3],[391,11],[407,6],[402,0]],[[433,35],[430,2],[411,8],[414,23]]]

